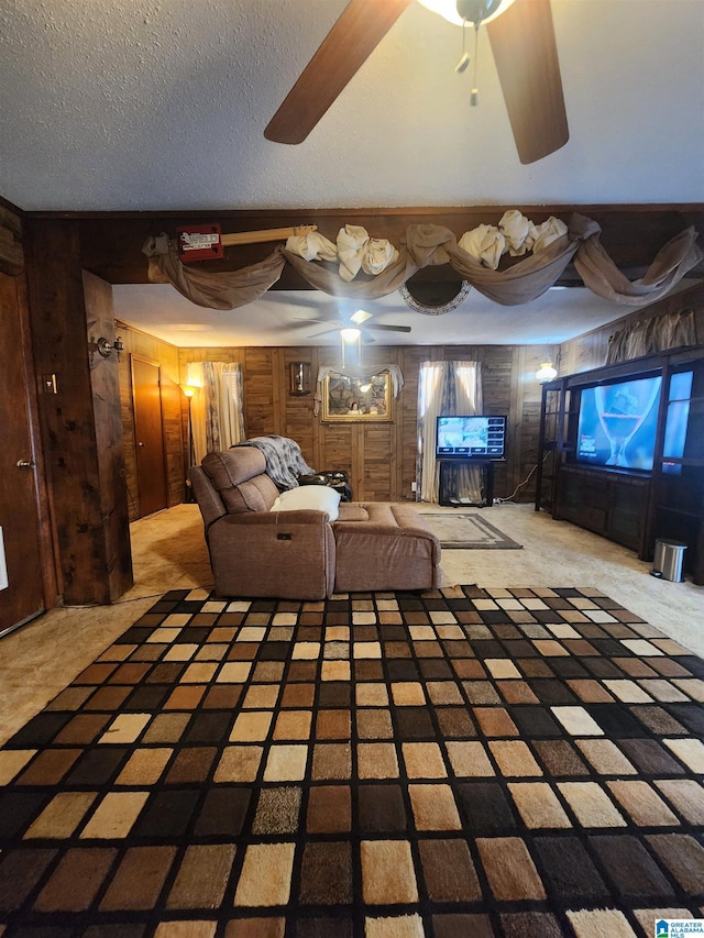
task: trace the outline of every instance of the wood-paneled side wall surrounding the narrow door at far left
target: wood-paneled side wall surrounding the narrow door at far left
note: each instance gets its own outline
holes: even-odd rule
[[[184,500],[186,485],[186,441],[188,402],[179,387],[178,349],[154,335],[116,323],[116,334],[124,343],[120,356],[120,409],[124,438],[124,473],[128,486],[130,521],[140,517],[140,492],[136,475],[136,440],[134,439],[134,402],[132,397],[131,356],[140,355],[161,365],[162,421],[166,456],[166,494],[170,508]]]

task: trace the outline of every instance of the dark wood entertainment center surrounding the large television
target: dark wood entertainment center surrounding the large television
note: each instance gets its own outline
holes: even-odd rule
[[[690,396],[673,397],[673,376],[690,372]],[[658,375],[662,383],[652,470],[590,465],[578,459],[582,393]],[[668,413],[683,407],[689,413],[686,442],[682,455],[672,457]],[[704,585],[704,349],[605,365],[544,384],[536,479],[536,511],[541,509],[623,544],[645,561],[652,560],[659,538],[685,543],[684,570]]]

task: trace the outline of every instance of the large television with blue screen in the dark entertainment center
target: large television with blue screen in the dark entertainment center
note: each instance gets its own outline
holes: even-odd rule
[[[582,388],[576,462],[650,472],[661,385],[650,375]]]

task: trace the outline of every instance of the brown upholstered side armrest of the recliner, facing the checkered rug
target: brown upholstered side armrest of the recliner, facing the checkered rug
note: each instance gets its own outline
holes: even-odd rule
[[[336,547],[324,511],[224,515],[207,540],[223,596],[323,599],[332,593]]]

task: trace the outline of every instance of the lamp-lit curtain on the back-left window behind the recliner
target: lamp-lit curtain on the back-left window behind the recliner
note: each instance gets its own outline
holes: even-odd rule
[[[239,363],[191,362],[187,384],[195,387],[190,422],[194,461],[228,450],[245,439],[242,366]]]

